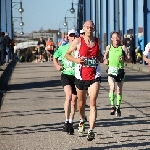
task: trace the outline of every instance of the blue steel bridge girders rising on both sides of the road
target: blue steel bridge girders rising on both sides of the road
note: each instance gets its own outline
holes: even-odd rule
[[[130,0],[133,3],[133,35],[138,33],[138,2],[139,0]],[[141,1],[141,0],[140,0]],[[150,42],[150,0],[143,1],[143,36],[144,45]],[[122,4],[121,9],[119,9]],[[96,25],[95,35],[100,37],[104,41],[104,28],[106,28],[106,45],[110,43],[111,26],[116,31],[120,31],[120,24],[122,24],[122,35],[127,33],[127,0],[78,0],[77,11],[77,29],[82,29],[83,22],[86,20],[93,20]],[[113,9],[110,9],[113,7]],[[112,10],[112,11],[111,11]],[[12,0],[0,1],[0,29],[3,32],[9,32],[9,36],[13,38],[13,22],[12,22]],[[120,12],[122,16],[120,16]],[[110,17],[113,14],[113,21]],[[131,17],[131,16],[129,16]],[[104,21],[106,18],[106,22]],[[121,19],[120,19],[121,18]],[[104,23],[105,22],[105,23]],[[122,23],[121,23],[122,22]],[[137,36],[135,36],[137,46]],[[101,45],[101,49],[104,50],[104,42]]]

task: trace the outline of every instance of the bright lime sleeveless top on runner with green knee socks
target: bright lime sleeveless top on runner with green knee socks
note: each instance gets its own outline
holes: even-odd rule
[[[120,60],[121,56],[123,56],[122,46],[118,46],[117,48],[115,48],[111,45],[108,56],[108,74],[117,75],[118,70],[124,68],[124,61]]]

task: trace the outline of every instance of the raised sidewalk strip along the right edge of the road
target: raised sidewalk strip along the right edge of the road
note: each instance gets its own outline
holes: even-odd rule
[[[150,73],[150,67],[148,65],[143,65],[143,64],[139,64],[139,63],[136,63],[136,64],[126,63],[125,66],[127,68],[132,68],[134,70],[139,70],[142,72]]]

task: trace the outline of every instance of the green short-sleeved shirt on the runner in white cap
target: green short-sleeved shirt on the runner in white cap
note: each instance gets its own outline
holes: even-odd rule
[[[65,55],[68,49],[69,49],[69,44],[60,46],[58,50],[55,51],[54,58],[59,58],[59,57],[61,58],[62,68],[63,68],[61,72],[63,74],[74,76],[75,75],[75,63],[65,58]]]

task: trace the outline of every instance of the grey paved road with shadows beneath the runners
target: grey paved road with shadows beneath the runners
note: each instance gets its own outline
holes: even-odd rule
[[[77,133],[78,112],[75,135],[62,132],[65,97],[60,72],[51,63],[17,64],[0,113],[0,150],[150,149],[150,75],[126,69],[122,117],[118,118],[109,115],[105,70],[102,65],[96,139],[88,142],[86,135]]]

